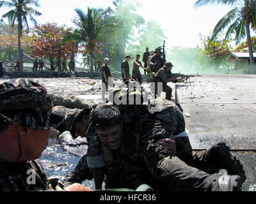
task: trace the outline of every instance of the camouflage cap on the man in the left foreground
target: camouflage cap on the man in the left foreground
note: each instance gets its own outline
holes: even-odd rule
[[[31,129],[55,129],[59,118],[51,118],[52,99],[42,85],[17,79],[0,85],[0,122]]]

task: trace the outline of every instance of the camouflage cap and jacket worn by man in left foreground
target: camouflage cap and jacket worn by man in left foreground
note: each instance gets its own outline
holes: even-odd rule
[[[31,129],[58,128],[63,115],[52,118],[51,114],[51,96],[42,85],[27,79],[10,80],[0,85],[1,123]],[[35,185],[26,182],[31,175],[27,174],[28,170],[36,173]],[[38,161],[9,163],[0,159],[0,191],[46,190],[46,182],[47,175]]]

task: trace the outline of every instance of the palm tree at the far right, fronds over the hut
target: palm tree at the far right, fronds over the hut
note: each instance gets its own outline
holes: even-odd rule
[[[235,40],[238,44],[243,38],[247,37],[251,64],[250,72],[253,73],[255,62],[253,58],[250,28],[251,26],[253,27],[253,16],[255,16],[255,0],[197,0],[195,7],[198,8],[206,4],[224,4],[234,7],[232,10],[228,11],[215,26],[211,40],[216,38],[227,26],[228,30],[225,40],[230,38],[231,34],[236,34]]]

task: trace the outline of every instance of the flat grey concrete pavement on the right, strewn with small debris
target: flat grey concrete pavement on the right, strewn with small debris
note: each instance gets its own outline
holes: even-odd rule
[[[204,75],[178,84],[193,149],[226,142],[246,171],[243,191],[256,191],[256,75]]]

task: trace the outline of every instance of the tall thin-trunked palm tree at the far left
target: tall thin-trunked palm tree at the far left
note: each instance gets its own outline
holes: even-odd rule
[[[0,8],[2,6],[7,6],[12,8],[3,15],[3,18],[8,18],[8,21],[12,26],[15,25],[15,22],[18,22],[18,50],[19,50],[19,59],[20,59],[20,71],[23,71],[23,56],[20,45],[20,38],[22,36],[23,28],[26,27],[29,31],[28,18],[33,24],[36,25],[36,20],[33,16],[42,15],[32,8],[31,6],[39,7],[40,4],[38,0],[10,0],[10,1],[0,1]]]

